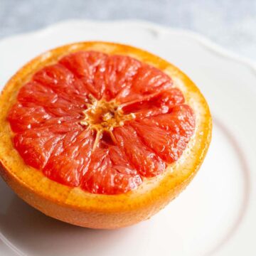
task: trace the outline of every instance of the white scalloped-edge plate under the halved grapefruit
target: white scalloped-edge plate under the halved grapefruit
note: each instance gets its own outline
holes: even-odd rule
[[[48,218],[0,180],[0,255],[256,255],[255,64],[191,32],[142,21],[68,21],[0,41],[0,85],[44,50],[88,40],[144,48],[196,82],[214,117],[206,160],[168,207],[120,230]]]

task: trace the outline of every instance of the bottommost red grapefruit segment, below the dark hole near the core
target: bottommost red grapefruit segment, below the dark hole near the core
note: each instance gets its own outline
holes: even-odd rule
[[[117,146],[99,146],[92,153],[89,170],[81,187],[91,193],[119,194],[137,188],[142,183],[136,169]]]

